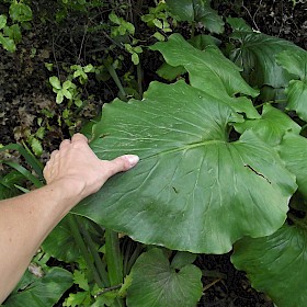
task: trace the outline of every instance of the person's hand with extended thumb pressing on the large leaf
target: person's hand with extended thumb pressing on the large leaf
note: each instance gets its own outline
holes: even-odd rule
[[[125,155],[112,161],[100,160],[88,145],[82,134],[75,134],[71,140],[65,139],[50,155],[44,169],[47,184],[65,184],[68,195],[79,196],[80,201],[95,193],[105,181],[117,172],[133,168],[139,158]]]

